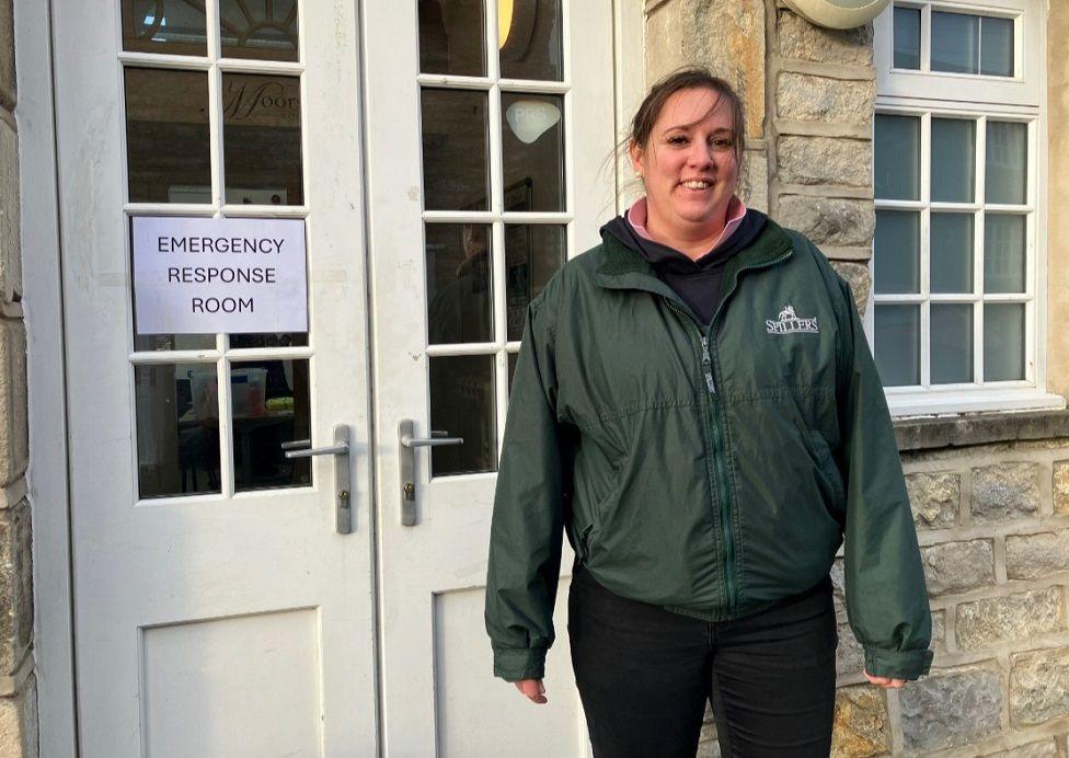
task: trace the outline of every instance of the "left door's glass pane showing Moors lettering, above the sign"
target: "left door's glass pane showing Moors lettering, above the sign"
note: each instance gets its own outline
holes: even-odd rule
[[[301,205],[300,78],[222,74],[227,203]]]

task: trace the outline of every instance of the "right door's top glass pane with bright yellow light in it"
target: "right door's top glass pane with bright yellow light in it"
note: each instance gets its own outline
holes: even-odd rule
[[[561,0],[497,0],[504,79],[564,79]]]

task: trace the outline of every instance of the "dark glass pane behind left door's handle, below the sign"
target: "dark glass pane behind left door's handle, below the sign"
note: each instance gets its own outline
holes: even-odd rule
[[[235,492],[312,483],[309,459],[281,449],[311,435],[307,359],[231,364],[230,409]]]

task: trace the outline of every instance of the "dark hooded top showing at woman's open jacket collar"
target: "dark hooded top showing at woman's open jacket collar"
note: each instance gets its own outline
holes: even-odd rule
[[[625,216],[617,216],[601,227],[601,232],[609,232],[646,259],[662,282],[682,298],[702,323],[709,324],[720,306],[727,261],[757,239],[767,220],[768,216],[760,210],[748,208],[732,236],[697,261],[691,261],[674,248],[642,237]]]

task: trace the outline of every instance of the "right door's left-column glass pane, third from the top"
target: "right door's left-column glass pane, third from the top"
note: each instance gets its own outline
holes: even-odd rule
[[[490,225],[426,225],[427,338],[432,345],[494,338]]]

